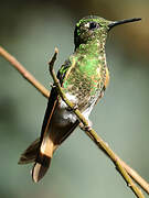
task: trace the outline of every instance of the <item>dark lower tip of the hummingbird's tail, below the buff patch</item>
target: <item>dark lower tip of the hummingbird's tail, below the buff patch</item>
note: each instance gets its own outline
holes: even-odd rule
[[[34,183],[41,180],[47,172],[51,164],[51,157],[43,156],[42,162],[35,162],[32,169],[32,179]]]

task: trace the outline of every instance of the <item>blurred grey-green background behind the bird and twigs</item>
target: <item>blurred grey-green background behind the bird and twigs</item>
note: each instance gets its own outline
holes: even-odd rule
[[[47,62],[55,46],[60,50],[56,69],[73,53],[78,19],[88,14],[109,20],[142,18],[109,33],[110,84],[91,120],[110,147],[149,180],[149,1],[0,2],[0,45],[49,89]],[[134,197],[113,163],[79,129],[57,150],[44,179],[32,183],[32,165],[20,166],[18,160],[40,135],[46,102],[0,57],[0,198]]]

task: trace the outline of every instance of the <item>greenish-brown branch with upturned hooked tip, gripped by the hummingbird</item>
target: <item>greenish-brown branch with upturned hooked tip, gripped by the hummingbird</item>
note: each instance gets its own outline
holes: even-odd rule
[[[57,53],[58,53],[58,51],[57,51],[57,48],[55,48],[55,53],[54,53],[51,62],[49,63],[49,65],[50,65],[50,73],[51,73],[52,78],[54,80],[54,85],[57,88],[58,95],[65,101],[65,103],[73,110],[73,112],[77,116],[78,120],[84,124],[85,133],[113,161],[113,163],[115,164],[117,170],[124,177],[125,182],[130,187],[130,189],[134,191],[134,194],[138,198],[143,198],[143,195],[142,195],[141,190],[135,185],[135,183],[132,182],[132,179],[128,175],[127,170],[121,165],[121,162],[117,157],[117,155],[115,155],[115,153],[110,150],[110,147],[97,135],[97,133],[93,129],[89,128],[87,120],[83,117],[83,114],[79,112],[79,110],[74,108],[74,105],[70,100],[67,100],[65,94],[63,92],[63,88],[61,87],[60,81],[56,78],[55,72],[53,69],[54,62],[56,61]],[[73,64],[75,64],[75,62],[73,62]]]

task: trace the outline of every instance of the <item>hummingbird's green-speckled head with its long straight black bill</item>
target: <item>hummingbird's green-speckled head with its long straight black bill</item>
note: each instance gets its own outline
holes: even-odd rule
[[[74,31],[75,46],[77,47],[79,46],[79,44],[85,44],[95,40],[105,41],[107,37],[107,33],[111,28],[139,20],[141,19],[134,18],[121,21],[108,21],[97,15],[85,16],[76,23],[76,28]]]

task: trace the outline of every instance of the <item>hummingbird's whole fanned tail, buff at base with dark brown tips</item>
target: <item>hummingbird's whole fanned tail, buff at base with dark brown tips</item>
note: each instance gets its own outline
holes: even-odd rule
[[[36,139],[22,154],[18,164],[34,163],[32,168],[32,179],[38,183],[47,172],[51,158],[57,145],[46,136],[42,144],[40,139]]]

